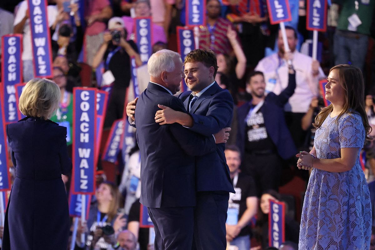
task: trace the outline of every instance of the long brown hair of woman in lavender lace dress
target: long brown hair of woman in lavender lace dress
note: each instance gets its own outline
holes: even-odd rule
[[[329,72],[334,69],[338,70],[339,82],[341,87],[345,90],[344,108],[336,118],[336,123],[338,123],[341,115],[347,112],[351,113],[356,111],[362,117],[363,126],[365,127],[366,131],[366,138],[371,139],[368,137],[369,133],[371,132],[371,126],[369,125],[365,111],[365,84],[363,83],[361,70],[349,64],[340,64],[330,69]],[[322,108],[317,117],[315,117],[315,123],[313,123],[314,127],[319,128],[322,126],[323,121],[326,120],[327,116],[330,114],[330,112],[332,112],[332,110],[332,103],[329,106]]]

